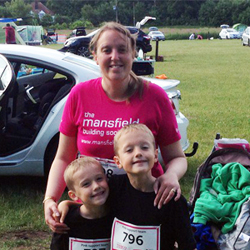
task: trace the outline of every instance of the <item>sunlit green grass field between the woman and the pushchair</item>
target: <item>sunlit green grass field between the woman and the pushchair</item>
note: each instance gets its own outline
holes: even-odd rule
[[[152,45],[149,55],[155,55]],[[250,141],[250,48],[240,40],[182,40],[160,42],[158,53],[164,62],[155,63],[155,75],[181,81],[180,110],[190,121],[188,138],[199,142],[181,182],[188,198],[196,168],[209,155],[216,133]]]

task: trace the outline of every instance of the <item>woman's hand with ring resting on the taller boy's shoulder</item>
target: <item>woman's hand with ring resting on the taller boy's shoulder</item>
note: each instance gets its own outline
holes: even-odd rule
[[[177,201],[181,197],[181,188],[177,175],[165,173],[158,177],[154,184],[154,191],[156,193],[154,205],[158,206],[159,209],[174,196],[174,200]]]

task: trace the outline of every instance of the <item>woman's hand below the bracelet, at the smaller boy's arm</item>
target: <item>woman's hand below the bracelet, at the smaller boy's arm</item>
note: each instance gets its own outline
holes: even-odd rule
[[[57,203],[49,199],[44,203],[44,216],[46,224],[55,233],[67,233],[69,228],[66,224],[60,222],[60,212],[57,208]]]

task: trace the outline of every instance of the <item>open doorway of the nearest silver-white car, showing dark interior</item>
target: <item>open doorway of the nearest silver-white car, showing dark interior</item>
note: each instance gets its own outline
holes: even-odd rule
[[[59,90],[67,85],[67,89],[63,88],[66,93],[71,86],[67,76],[49,69],[46,64],[21,57],[7,59],[14,68],[16,81],[5,107],[8,122],[4,131],[5,147],[0,150],[0,156],[30,146],[50,109],[64,95],[60,91],[59,97]]]

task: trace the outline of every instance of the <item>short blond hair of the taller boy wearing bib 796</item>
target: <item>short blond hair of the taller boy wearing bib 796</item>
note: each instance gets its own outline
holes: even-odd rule
[[[145,133],[149,134],[151,137],[152,137],[152,143],[154,144],[154,147],[156,148],[155,146],[155,137],[152,133],[152,131],[144,124],[142,123],[132,123],[132,124],[129,124],[129,125],[126,125],[124,127],[122,127],[115,135],[114,137],[114,151],[115,151],[115,155],[118,155],[118,148],[119,148],[119,139],[120,137],[123,135],[123,134],[126,134],[128,132],[131,132],[131,131],[144,131]]]

